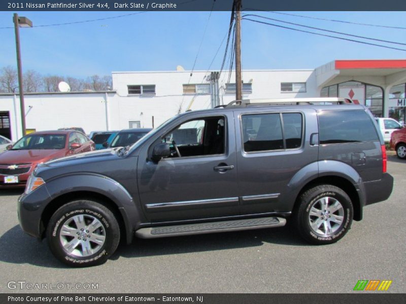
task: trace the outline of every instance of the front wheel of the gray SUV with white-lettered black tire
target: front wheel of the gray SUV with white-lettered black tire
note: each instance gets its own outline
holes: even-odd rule
[[[94,201],[77,200],[63,205],[52,215],[47,239],[60,261],[73,267],[89,267],[103,264],[115,252],[120,227],[107,207]]]

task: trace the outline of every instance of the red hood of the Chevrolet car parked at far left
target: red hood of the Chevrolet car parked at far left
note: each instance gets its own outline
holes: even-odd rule
[[[0,154],[0,164],[37,164],[62,156],[65,156],[64,149],[8,150]]]

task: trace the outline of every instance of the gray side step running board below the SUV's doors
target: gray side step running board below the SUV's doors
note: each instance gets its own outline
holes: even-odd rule
[[[216,221],[196,224],[147,227],[137,230],[136,236],[142,239],[153,239],[153,238],[206,234],[206,233],[281,227],[284,226],[285,224],[286,219],[282,217],[260,217],[260,218],[237,219],[237,220]]]

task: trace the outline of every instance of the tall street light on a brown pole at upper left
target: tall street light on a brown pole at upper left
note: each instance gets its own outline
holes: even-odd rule
[[[22,69],[21,69],[21,52],[20,52],[20,27],[32,27],[32,22],[27,17],[18,17],[18,14],[13,15],[14,30],[16,33],[16,50],[17,50],[17,70],[18,70],[18,86],[20,95],[20,110],[21,110],[21,131],[22,136],[25,135],[25,107],[24,107],[24,90],[22,87]]]

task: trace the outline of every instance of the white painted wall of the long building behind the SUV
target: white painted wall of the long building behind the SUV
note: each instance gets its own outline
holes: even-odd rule
[[[129,127],[129,121],[140,121],[141,127],[157,127],[167,119],[188,108],[206,109],[211,106],[211,95],[183,94],[184,84],[209,84],[210,72],[147,71],[113,72],[113,90],[105,92],[25,94],[26,128],[37,131],[61,127],[82,127],[87,133],[106,130],[106,99],[109,130]],[[219,79],[220,103],[235,99],[235,93],[225,93],[228,74]],[[235,82],[232,73],[230,83]],[[244,70],[243,82],[252,83],[252,94],[246,99],[317,97],[314,70]],[[282,93],[282,82],[306,82],[305,93]],[[127,85],[155,85],[155,96],[128,95]],[[15,99],[15,101],[14,101]],[[0,111],[10,111],[12,140],[21,137],[19,96],[0,94]]]

